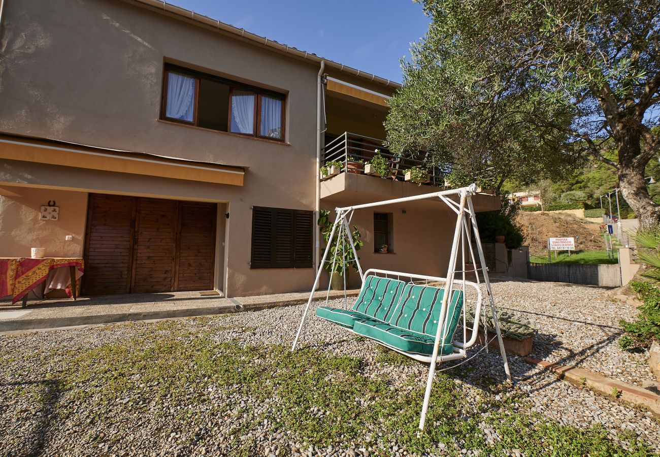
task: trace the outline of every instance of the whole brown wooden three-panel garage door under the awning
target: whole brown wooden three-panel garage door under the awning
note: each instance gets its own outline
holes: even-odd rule
[[[88,295],[213,289],[216,204],[90,194]]]

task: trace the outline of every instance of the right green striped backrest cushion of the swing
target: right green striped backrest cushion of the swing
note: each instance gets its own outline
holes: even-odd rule
[[[386,322],[391,326],[435,338],[444,292],[440,287],[407,284],[403,289],[399,306]],[[463,309],[463,292],[454,290],[447,305],[447,325],[442,337],[443,343],[450,343],[456,332]]]

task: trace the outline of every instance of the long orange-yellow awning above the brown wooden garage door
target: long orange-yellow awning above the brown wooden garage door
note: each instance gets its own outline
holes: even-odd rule
[[[0,159],[243,186],[247,167],[0,133]]]

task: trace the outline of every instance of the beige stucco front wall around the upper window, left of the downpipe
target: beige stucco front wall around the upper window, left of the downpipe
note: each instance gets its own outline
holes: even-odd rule
[[[3,23],[0,131],[249,169],[238,187],[7,160],[0,184],[224,202],[228,295],[309,287],[313,269],[248,263],[251,206],[314,207],[317,67],[117,0],[8,1]],[[286,93],[288,144],[160,122],[164,61]]]

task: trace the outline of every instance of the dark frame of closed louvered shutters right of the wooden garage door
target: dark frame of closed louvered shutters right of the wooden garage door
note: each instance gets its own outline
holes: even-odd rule
[[[255,243],[255,225],[256,217],[255,211],[269,211],[271,213],[271,260],[269,264],[264,264],[263,262],[255,262],[254,260],[254,243]],[[277,213],[290,213],[292,215],[291,219],[291,262],[287,264],[277,264]],[[298,214],[306,214],[310,217],[310,231],[309,231],[309,252],[310,260],[309,264],[303,261],[296,260],[296,217]],[[252,232],[250,234],[250,269],[268,269],[268,268],[314,268],[314,211],[307,209],[288,209],[288,208],[275,208],[275,207],[265,207],[265,206],[254,206],[252,211],[252,223],[251,223]],[[307,236],[305,238],[308,238]],[[256,265],[255,265],[256,264]]]

